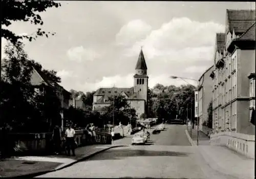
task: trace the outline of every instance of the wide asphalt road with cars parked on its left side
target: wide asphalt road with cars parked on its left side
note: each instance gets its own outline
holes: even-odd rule
[[[233,179],[207,165],[197,149],[190,146],[185,126],[166,127],[165,131],[152,135],[147,145],[109,149],[87,161],[39,177]]]

